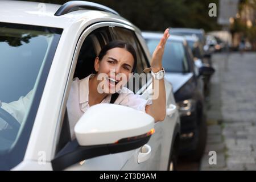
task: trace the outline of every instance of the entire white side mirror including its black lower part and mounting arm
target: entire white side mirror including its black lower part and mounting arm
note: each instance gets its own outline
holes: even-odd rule
[[[94,105],[76,123],[76,139],[56,155],[52,168],[62,170],[85,159],[139,148],[154,133],[154,123],[150,115],[131,107]]]

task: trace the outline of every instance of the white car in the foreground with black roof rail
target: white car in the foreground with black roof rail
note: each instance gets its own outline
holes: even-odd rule
[[[163,122],[154,123],[150,115],[130,107],[98,104],[76,123],[76,139],[71,140],[66,104],[72,80],[92,73],[102,46],[117,39],[134,46],[136,71],[142,73],[151,56],[141,31],[114,10],[84,1],[63,6],[0,1],[0,100],[15,108],[15,101],[30,94],[24,117],[14,118],[0,107],[0,169],[175,167],[180,121],[167,81]],[[135,92],[149,98],[151,81]]]

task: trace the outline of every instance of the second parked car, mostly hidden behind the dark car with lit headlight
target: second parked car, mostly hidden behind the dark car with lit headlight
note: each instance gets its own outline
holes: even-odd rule
[[[199,42],[199,39],[196,36],[185,36],[187,40],[188,47],[193,53],[193,61],[196,67],[200,70],[203,67],[208,67],[208,74],[205,72],[203,75],[204,81],[204,97],[209,100],[210,94],[210,77],[215,72],[212,64],[209,63],[208,57],[204,56],[203,45]],[[200,71],[199,71],[200,72]]]

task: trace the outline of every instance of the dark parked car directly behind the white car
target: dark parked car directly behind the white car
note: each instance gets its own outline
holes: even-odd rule
[[[152,53],[161,34],[142,32],[142,35]],[[208,71],[208,67],[203,66],[198,71],[184,36],[175,35],[167,40],[163,67],[166,70],[166,79],[174,88],[180,114],[180,155],[199,160],[204,154],[207,139],[202,76]]]

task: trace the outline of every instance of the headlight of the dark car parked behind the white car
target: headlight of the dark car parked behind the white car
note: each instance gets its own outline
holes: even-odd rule
[[[176,105],[180,116],[191,115],[192,111],[195,110],[195,103],[195,100],[192,99],[177,102]]]

